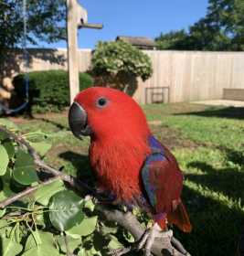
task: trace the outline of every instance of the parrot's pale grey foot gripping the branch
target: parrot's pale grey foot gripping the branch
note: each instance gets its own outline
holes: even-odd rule
[[[150,229],[147,229],[142,239],[139,241],[139,244],[137,246],[137,250],[142,250],[144,248],[144,256],[150,256],[151,250],[154,244],[154,240],[156,238],[167,238],[171,240],[173,237],[173,231],[162,231],[162,229],[158,226],[157,223],[154,224],[154,226]]]

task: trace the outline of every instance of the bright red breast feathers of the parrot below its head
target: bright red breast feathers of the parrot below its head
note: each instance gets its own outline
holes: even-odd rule
[[[101,188],[128,203],[142,194],[140,170],[150,152],[146,142],[133,143],[134,140],[128,143],[118,138],[110,144],[96,141],[90,144],[90,164]]]

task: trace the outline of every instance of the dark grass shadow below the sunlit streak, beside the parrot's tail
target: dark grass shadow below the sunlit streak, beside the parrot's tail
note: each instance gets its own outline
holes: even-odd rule
[[[195,256],[236,255],[244,227],[243,212],[204,197],[189,187],[184,187],[183,199],[193,230],[185,234],[175,229],[175,237],[186,250]]]

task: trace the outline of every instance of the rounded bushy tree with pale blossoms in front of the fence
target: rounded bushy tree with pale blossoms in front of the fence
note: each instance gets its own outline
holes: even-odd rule
[[[93,53],[91,66],[91,72],[101,84],[129,94],[136,90],[138,77],[147,80],[153,73],[150,58],[122,40],[99,42]]]

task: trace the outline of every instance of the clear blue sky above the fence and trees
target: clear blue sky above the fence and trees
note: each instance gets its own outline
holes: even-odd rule
[[[101,30],[79,30],[79,48],[94,48],[99,40],[117,36],[158,37],[193,25],[207,13],[207,0],[79,0],[88,11],[90,23]],[[40,44],[46,48],[66,48],[66,42]]]

